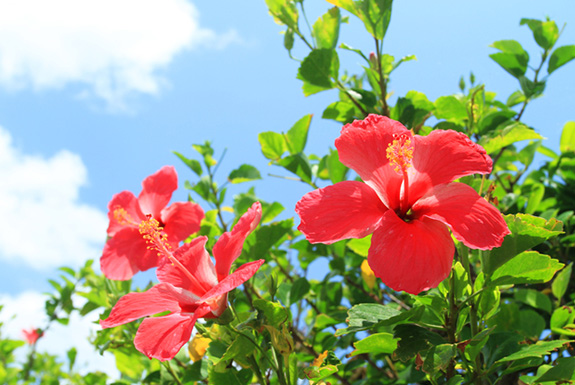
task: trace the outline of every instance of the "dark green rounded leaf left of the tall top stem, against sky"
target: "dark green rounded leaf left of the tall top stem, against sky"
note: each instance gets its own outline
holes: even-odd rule
[[[328,90],[334,87],[332,79],[338,78],[339,59],[334,49],[314,49],[301,63],[298,70],[298,79],[316,86],[315,92]],[[304,90],[306,91],[306,90]],[[315,93],[311,92],[311,93]],[[311,95],[310,89],[306,96]]]

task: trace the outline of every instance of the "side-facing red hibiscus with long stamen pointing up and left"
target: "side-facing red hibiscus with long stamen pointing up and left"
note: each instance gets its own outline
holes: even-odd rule
[[[166,263],[157,270],[160,283],[146,292],[120,298],[100,325],[110,328],[169,311],[168,315],[144,319],[134,345],[149,358],[174,358],[189,341],[196,320],[219,317],[227,307],[227,293],[250,279],[264,263],[263,259],[249,262],[230,274],[232,263],[261,215],[261,205],[256,202],[231,232],[220,236],[213,248],[215,266],[205,249],[206,237],[195,238],[172,253],[154,219],[144,222],[142,234],[166,257]]]

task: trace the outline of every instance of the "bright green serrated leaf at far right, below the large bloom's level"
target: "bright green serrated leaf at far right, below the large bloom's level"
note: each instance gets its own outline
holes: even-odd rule
[[[495,270],[490,285],[548,282],[563,266],[558,260],[548,255],[539,254],[536,251],[525,251]]]

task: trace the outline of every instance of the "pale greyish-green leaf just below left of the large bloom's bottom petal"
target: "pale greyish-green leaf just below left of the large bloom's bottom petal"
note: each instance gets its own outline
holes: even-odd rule
[[[336,336],[368,330],[376,325],[391,325],[409,318],[413,313],[411,311],[402,312],[392,305],[362,303],[353,306],[347,314],[346,321],[349,326],[345,329],[338,329],[335,332]]]

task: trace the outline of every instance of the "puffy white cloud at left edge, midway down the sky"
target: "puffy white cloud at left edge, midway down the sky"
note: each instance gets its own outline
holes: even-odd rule
[[[42,270],[101,255],[107,216],[79,202],[87,171],[78,155],[25,155],[0,127],[0,180],[0,259]]]

